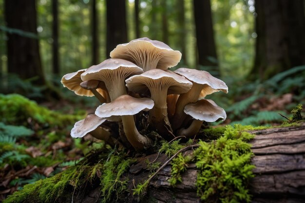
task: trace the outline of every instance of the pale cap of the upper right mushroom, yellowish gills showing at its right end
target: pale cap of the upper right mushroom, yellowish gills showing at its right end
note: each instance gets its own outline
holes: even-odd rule
[[[174,72],[185,76],[194,83],[205,85],[201,95],[208,95],[218,91],[228,93],[228,86],[226,83],[212,76],[209,72],[189,68],[179,68]]]

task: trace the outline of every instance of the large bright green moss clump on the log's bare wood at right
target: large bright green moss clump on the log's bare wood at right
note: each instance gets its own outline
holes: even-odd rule
[[[200,169],[197,193],[203,201],[250,202],[247,185],[254,176],[254,166],[250,165],[253,154],[245,141],[253,135],[241,129],[241,125],[227,126],[222,137],[211,143],[200,141],[194,151]]]

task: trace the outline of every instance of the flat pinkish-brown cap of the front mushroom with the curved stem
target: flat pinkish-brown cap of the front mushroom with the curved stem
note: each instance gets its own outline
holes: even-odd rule
[[[154,103],[149,98],[134,98],[128,94],[117,97],[111,103],[97,107],[95,114],[101,118],[111,116],[134,115],[140,111],[149,111]],[[113,117],[112,117],[113,118]]]

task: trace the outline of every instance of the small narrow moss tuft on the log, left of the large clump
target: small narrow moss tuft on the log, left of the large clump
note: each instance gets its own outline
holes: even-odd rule
[[[172,186],[176,185],[177,182],[182,182],[181,173],[187,170],[187,164],[191,161],[191,156],[183,156],[179,153],[176,158],[172,159],[172,177],[169,182]]]

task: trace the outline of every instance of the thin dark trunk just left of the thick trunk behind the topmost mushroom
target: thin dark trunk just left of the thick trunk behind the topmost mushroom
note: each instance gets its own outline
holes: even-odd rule
[[[96,13],[96,0],[91,2],[91,33],[92,33],[92,65],[99,64],[98,60],[98,20]]]

